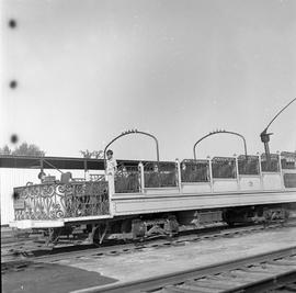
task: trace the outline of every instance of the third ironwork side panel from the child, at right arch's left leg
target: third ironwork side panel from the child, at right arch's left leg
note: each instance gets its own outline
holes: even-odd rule
[[[183,160],[181,162],[181,180],[182,182],[208,182],[208,160]]]

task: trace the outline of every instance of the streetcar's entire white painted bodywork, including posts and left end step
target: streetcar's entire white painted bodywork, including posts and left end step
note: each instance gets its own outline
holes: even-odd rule
[[[139,169],[143,170],[143,167]],[[57,227],[70,223],[99,222],[128,215],[296,203],[296,188],[285,187],[284,173],[296,173],[296,170],[282,170],[280,168],[278,172],[260,171],[259,174],[254,176],[239,174],[229,179],[210,178],[208,182],[192,183],[181,182],[180,176],[178,176],[177,187],[145,188],[144,176],[140,172],[141,184],[139,191],[134,193],[115,193],[114,180],[109,180],[110,213],[107,215],[57,221],[26,221],[25,223],[16,221],[12,225],[18,228]]]

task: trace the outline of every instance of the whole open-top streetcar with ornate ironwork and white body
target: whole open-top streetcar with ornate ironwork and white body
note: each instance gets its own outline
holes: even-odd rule
[[[182,161],[160,161],[158,154],[156,161],[123,161],[107,178],[62,176],[15,188],[11,226],[43,230],[47,244],[65,235],[102,244],[221,223],[284,222],[296,210],[296,153]]]

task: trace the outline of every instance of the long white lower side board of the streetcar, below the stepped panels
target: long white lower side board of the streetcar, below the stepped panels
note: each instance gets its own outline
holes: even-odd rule
[[[115,194],[112,199],[113,216],[147,214],[186,210],[218,209],[257,204],[296,202],[294,191],[247,191],[175,194]]]

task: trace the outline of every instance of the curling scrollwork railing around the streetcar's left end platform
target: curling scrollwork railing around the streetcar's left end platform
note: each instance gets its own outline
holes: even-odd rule
[[[15,219],[57,219],[109,214],[106,181],[46,183],[14,189]]]

